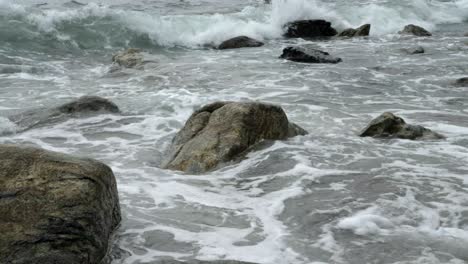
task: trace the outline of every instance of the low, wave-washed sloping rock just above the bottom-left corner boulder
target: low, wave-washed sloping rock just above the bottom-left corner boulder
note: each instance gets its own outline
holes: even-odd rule
[[[18,131],[62,122],[68,118],[89,116],[100,113],[119,113],[120,110],[111,101],[99,96],[82,96],[78,100],[52,109],[35,109],[10,116],[9,119],[18,126]]]

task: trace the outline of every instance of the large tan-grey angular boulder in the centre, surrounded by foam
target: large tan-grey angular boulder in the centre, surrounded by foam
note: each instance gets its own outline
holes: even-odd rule
[[[290,123],[283,109],[258,102],[215,102],[195,111],[177,133],[164,168],[188,173],[215,169],[262,140],[307,132]]]

